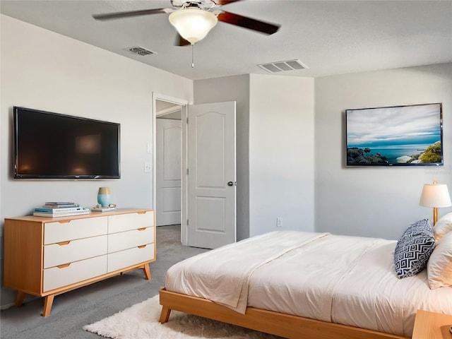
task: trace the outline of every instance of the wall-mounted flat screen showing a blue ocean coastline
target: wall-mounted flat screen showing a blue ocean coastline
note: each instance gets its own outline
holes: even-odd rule
[[[441,103],[345,110],[347,166],[439,166]]]

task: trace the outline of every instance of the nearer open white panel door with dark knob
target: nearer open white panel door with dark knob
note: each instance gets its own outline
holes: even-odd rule
[[[188,109],[188,245],[236,241],[235,102]]]

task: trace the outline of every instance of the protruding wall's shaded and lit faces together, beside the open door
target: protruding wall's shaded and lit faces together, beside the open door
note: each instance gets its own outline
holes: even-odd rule
[[[314,231],[314,79],[207,79],[195,81],[194,96],[237,102],[237,239]]]

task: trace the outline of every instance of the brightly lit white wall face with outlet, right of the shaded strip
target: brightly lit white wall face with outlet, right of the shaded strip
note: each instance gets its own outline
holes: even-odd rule
[[[314,79],[250,79],[250,235],[314,231]]]

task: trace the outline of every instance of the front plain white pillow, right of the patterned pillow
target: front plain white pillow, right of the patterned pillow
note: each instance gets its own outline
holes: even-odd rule
[[[436,242],[427,262],[427,278],[432,290],[452,286],[452,232],[448,232]]]

